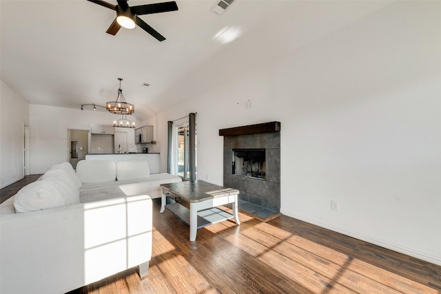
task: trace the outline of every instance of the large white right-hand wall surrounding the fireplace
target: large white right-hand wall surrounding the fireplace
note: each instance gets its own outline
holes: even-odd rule
[[[231,80],[150,118],[162,171],[167,120],[198,112],[198,176],[220,185],[218,129],[278,120],[284,214],[441,265],[440,12],[394,3],[285,56],[232,64]]]

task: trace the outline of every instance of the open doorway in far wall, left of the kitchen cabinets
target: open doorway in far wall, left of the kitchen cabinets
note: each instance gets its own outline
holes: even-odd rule
[[[68,156],[74,169],[76,164],[85,159],[89,153],[89,131],[84,129],[68,129]]]

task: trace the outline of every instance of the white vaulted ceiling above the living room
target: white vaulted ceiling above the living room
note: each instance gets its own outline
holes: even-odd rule
[[[1,80],[30,103],[79,109],[114,101],[123,78],[143,119],[391,2],[236,0],[218,16],[218,1],[176,1],[177,11],[140,16],[159,42],[139,27],[106,34],[116,13],[90,1],[1,0]]]

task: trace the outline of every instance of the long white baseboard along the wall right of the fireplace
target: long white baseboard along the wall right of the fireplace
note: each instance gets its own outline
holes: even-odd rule
[[[427,262],[431,262],[433,264],[437,264],[441,266],[441,257],[433,255],[431,253],[419,251],[417,249],[409,248],[407,246],[402,246],[400,244],[396,244],[393,242],[389,242],[387,240],[383,240],[380,238],[373,237],[371,235],[365,235],[363,233],[359,233],[356,231],[351,231],[343,227],[336,226],[334,224],[330,224],[328,222],[323,222],[322,220],[317,220],[315,218],[309,218],[308,216],[302,216],[299,213],[293,213],[291,211],[286,211],[284,209],[280,209],[280,212],[285,216],[289,216],[291,218],[296,218],[298,220],[302,220],[304,222],[308,222],[310,224],[315,224],[318,227],[322,227],[325,229],[329,229],[331,231],[335,231],[337,233],[342,233],[343,235],[348,235],[349,237],[356,238],[365,242],[369,242],[371,244],[375,244],[378,246],[382,246],[387,249],[391,249],[393,251],[403,253],[406,255],[410,255],[413,258],[418,258],[420,260],[424,260]]]

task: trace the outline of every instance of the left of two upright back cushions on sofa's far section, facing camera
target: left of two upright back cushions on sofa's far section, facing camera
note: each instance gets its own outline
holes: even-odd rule
[[[116,163],[107,160],[80,160],[76,174],[81,182],[111,182],[116,179]]]

